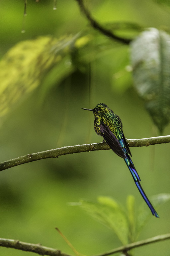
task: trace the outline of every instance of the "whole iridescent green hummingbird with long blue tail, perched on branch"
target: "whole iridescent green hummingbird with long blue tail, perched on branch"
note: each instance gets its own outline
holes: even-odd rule
[[[124,158],[141,196],[147,203],[152,214],[155,215],[155,217],[159,217],[140,185],[140,177],[130,158],[131,152],[123,133],[123,126],[120,117],[103,103],[98,104],[94,109],[83,109],[93,111],[95,116],[94,129],[96,133],[104,138],[110,148],[118,156]]]

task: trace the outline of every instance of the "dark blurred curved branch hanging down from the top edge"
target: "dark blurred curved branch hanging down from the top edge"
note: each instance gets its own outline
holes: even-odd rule
[[[101,24],[99,24],[96,20],[94,20],[90,12],[85,8],[83,0],[76,0],[76,1],[78,2],[80,10],[82,11],[82,13],[84,13],[86,18],[90,21],[90,24],[93,28],[99,30],[102,34],[116,40],[117,42],[121,42],[124,44],[129,44],[131,42],[130,39],[116,36],[111,30],[104,28]]]

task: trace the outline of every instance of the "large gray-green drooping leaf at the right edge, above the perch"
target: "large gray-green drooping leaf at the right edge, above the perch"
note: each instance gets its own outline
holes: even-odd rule
[[[131,43],[134,86],[160,133],[170,120],[170,36],[155,28]]]

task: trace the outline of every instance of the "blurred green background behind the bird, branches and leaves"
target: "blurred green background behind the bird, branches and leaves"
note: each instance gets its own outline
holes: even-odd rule
[[[86,1],[101,23],[129,22],[145,27],[169,29],[170,9],[154,1]],[[158,136],[143,101],[133,88],[131,73],[121,75],[129,63],[129,46],[115,43],[89,27],[75,0],[28,0],[23,29],[24,1],[1,0],[0,57],[16,43],[39,36],[62,38],[90,31],[92,50],[67,55],[65,73],[57,80],[55,67],[47,72],[39,86],[13,104],[3,116],[0,127],[1,162],[28,153],[63,146],[102,142],[93,129],[93,114],[81,108],[107,104],[118,114],[128,139]],[[83,33],[83,32],[82,32]],[[119,31],[121,36],[135,35]],[[98,49],[99,42],[104,48]],[[102,43],[101,43],[102,44]],[[81,56],[85,56],[81,59]],[[90,63],[90,64],[89,64]],[[71,69],[71,71],[69,71]],[[119,76],[120,74],[120,76]],[[7,75],[10,76],[10,73]],[[121,77],[121,79],[116,79]],[[55,80],[56,78],[56,80]],[[11,88],[11,91],[13,88]],[[17,94],[17,92],[16,92]],[[168,125],[163,135],[169,135]],[[170,145],[131,148],[132,160],[148,197],[169,193]],[[79,207],[69,205],[85,198],[111,196],[126,205],[129,194],[136,209],[142,197],[122,158],[111,150],[77,153],[57,159],[44,159],[0,173],[0,237],[41,243],[73,254],[55,230],[58,227],[82,254],[94,255],[121,246],[112,230],[95,222]],[[149,209],[148,209],[149,211]],[[139,239],[170,231],[170,203],[152,217]],[[135,249],[135,255],[169,255],[170,243],[164,241]],[[1,255],[33,255],[1,248]]]

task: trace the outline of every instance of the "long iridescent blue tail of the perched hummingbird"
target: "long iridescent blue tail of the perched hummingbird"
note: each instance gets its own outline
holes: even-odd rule
[[[141,185],[140,185],[140,177],[139,177],[139,175],[138,175],[138,173],[137,173],[137,171],[136,171],[136,169],[135,169],[135,167],[134,167],[134,164],[133,164],[133,162],[132,162],[130,156],[128,155],[127,152],[126,152],[125,154],[126,154],[127,158],[124,159],[124,160],[125,160],[125,162],[126,162],[128,168],[129,168],[129,170],[130,170],[131,175],[133,176],[134,182],[135,182],[135,184],[136,184],[136,186],[137,186],[137,188],[138,188],[138,190],[139,190],[141,196],[143,197],[143,199],[144,199],[145,202],[147,203],[147,205],[148,205],[148,207],[150,208],[152,214],[155,215],[155,217],[159,218],[159,215],[157,214],[157,212],[156,212],[155,209],[153,208],[151,202],[150,202],[149,199],[147,198],[145,192],[143,191],[143,189],[142,189],[142,187],[141,187]]]

